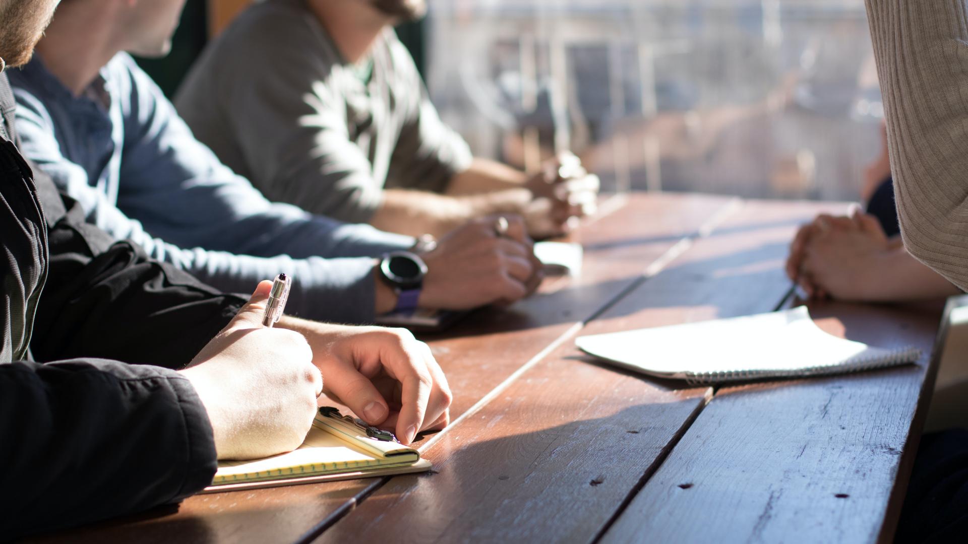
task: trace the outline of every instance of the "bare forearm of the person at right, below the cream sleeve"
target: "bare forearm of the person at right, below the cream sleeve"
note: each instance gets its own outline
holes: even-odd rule
[[[881,254],[867,283],[867,302],[906,302],[960,294],[943,276],[924,265],[904,248]]]

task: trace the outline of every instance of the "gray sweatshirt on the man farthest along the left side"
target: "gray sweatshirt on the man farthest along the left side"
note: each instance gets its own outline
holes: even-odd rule
[[[391,29],[355,66],[302,0],[239,15],[175,106],[265,196],[350,223],[370,222],[384,187],[442,192],[471,160]]]

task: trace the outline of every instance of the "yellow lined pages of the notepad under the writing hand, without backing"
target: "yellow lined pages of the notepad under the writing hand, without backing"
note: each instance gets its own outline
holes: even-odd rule
[[[340,436],[344,438],[339,438]],[[318,416],[306,440],[298,449],[255,461],[220,461],[212,483],[395,467],[412,465],[419,459],[419,454],[412,448],[396,442],[378,442],[348,433],[346,429],[341,429],[338,422],[329,425],[329,422],[324,422]]]

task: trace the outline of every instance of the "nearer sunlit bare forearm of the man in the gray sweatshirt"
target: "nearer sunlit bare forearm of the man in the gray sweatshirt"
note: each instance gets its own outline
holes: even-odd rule
[[[466,196],[388,189],[371,225],[410,236],[439,237],[476,217],[520,214],[529,200],[530,194],[523,188]]]

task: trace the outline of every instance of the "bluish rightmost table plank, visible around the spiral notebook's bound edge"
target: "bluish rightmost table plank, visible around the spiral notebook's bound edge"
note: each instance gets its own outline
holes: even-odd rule
[[[602,542],[872,542],[885,526],[890,540],[885,513],[923,423],[940,310],[830,304],[811,314],[841,337],[923,348],[922,360],[717,391]]]

